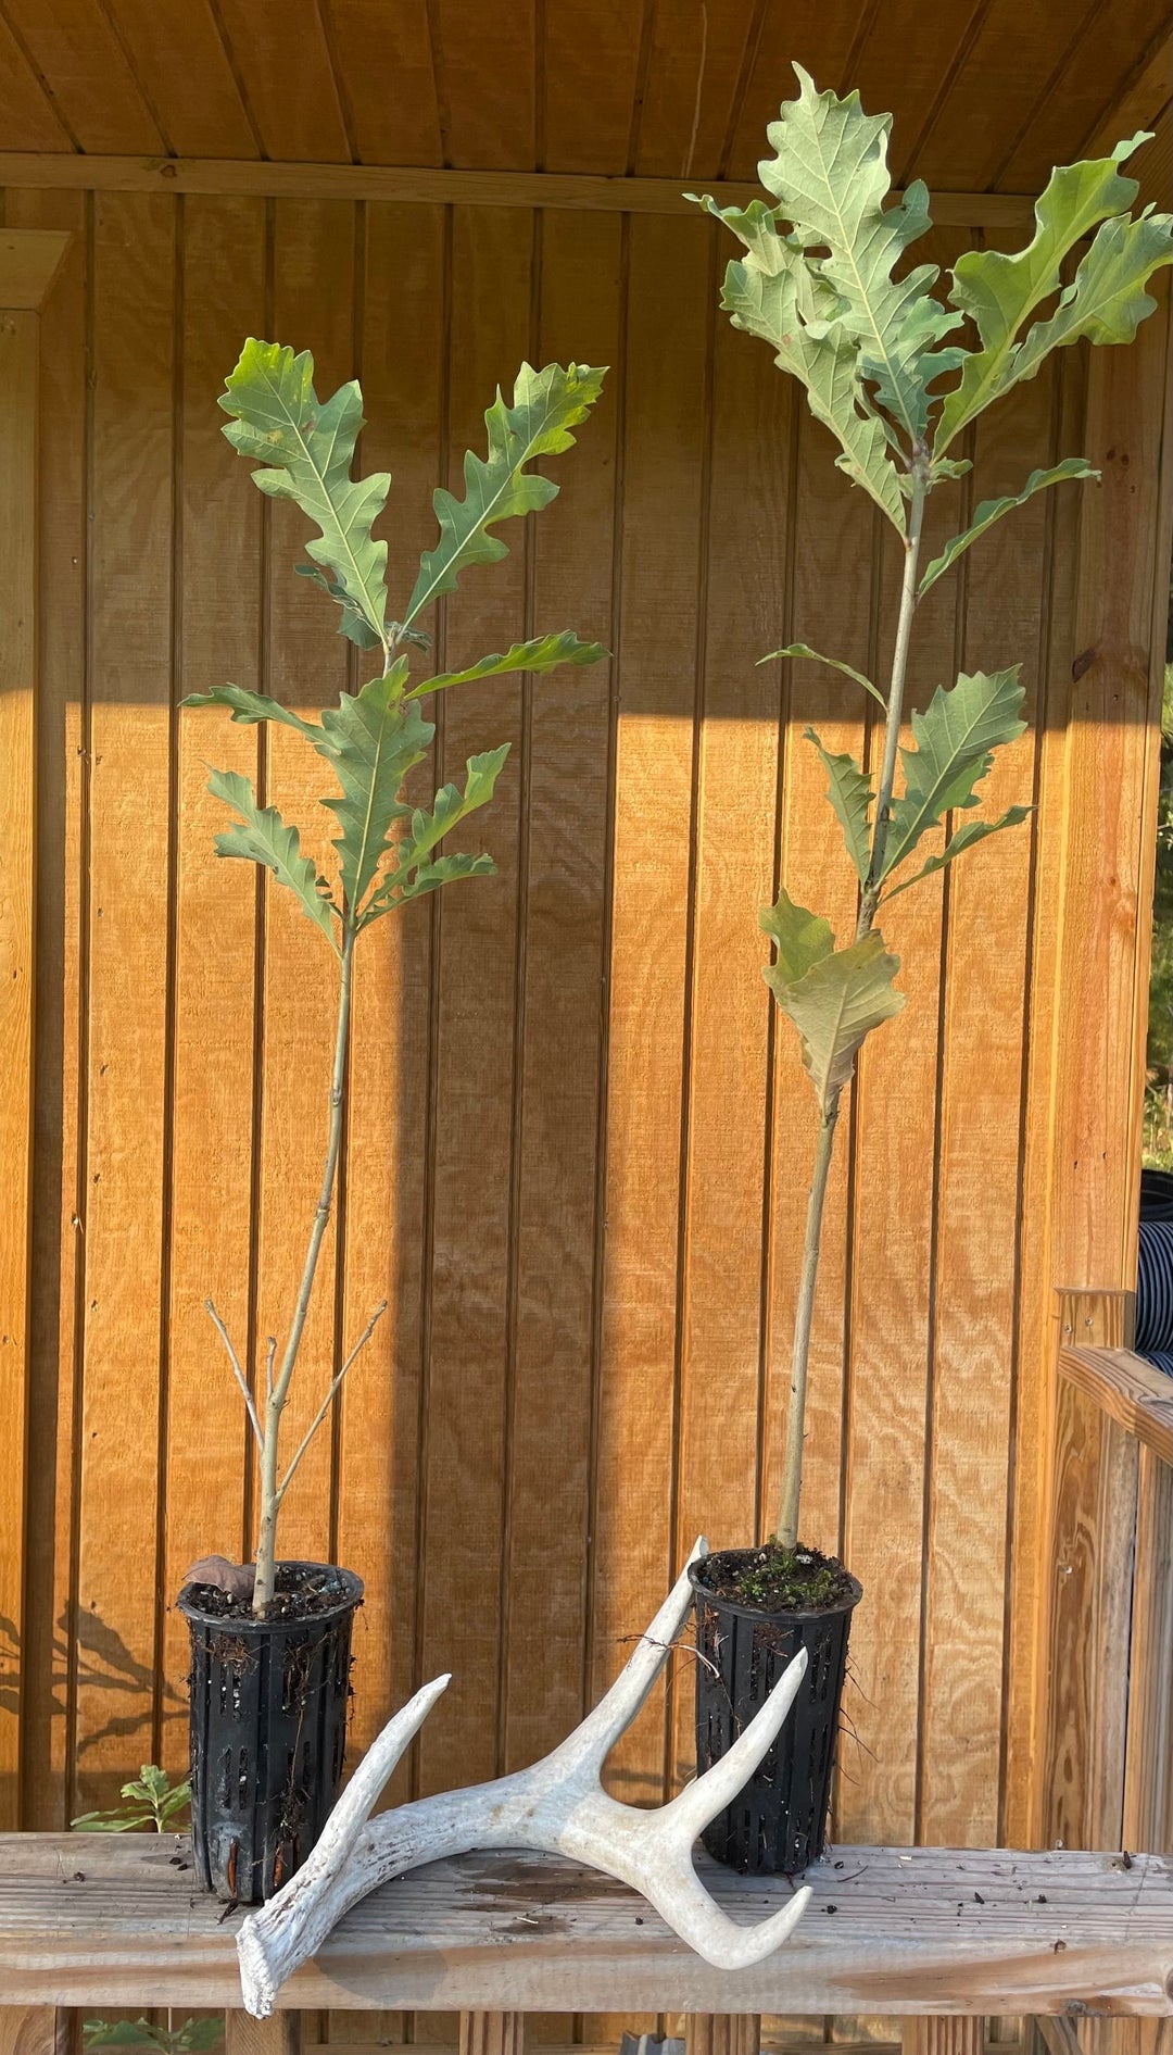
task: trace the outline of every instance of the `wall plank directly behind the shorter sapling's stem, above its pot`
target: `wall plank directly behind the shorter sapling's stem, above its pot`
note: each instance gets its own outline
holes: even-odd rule
[[[263,25],[261,25],[263,27]],[[333,393],[353,376],[353,234],[349,201],[277,201],[273,220],[273,335],[314,353],[314,386]],[[242,464],[244,471],[251,466]],[[255,487],[253,487],[255,491]],[[331,705],[349,678],[337,610],[294,565],[304,561],[306,520],[273,501],[267,528],[267,680],[283,705]],[[265,736],[265,797],[302,828],[302,849],[335,873],[333,816],[318,804],[323,762],[288,727]],[[283,1346],[306,1260],[327,1149],[331,1060],[337,1025],[337,960],[310,929],[292,892],[265,880],[263,1108],[257,1336]],[[310,1315],[281,1424],[294,1453],[335,1369],[335,1264],[341,1202],[318,1260]],[[327,1562],[331,1554],[331,1428],[323,1426],[298,1469],[277,1535],[281,1560]]]

